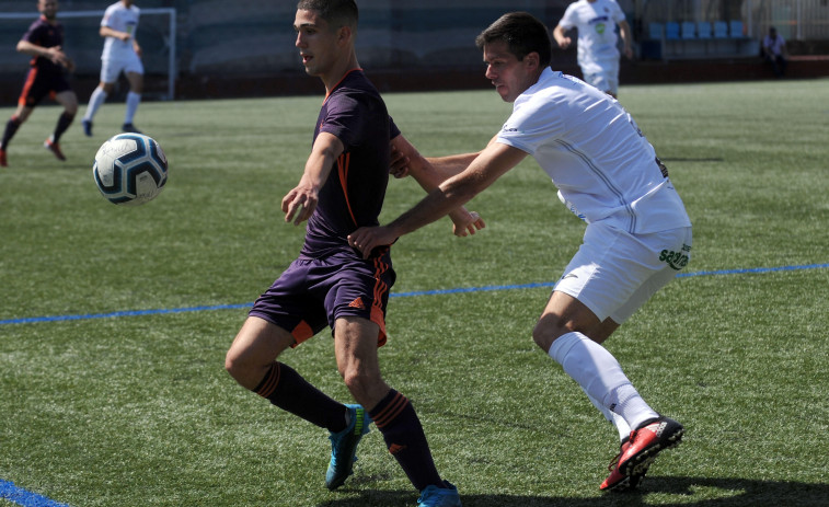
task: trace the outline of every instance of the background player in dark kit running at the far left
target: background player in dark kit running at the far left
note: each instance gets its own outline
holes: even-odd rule
[[[56,19],[58,2],[57,0],[39,0],[37,10],[41,12],[41,18],[32,23],[18,43],[18,51],[31,56],[32,62],[18,101],[18,110],[5,124],[3,138],[0,141],[0,166],[3,168],[8,166],[5,150],[9,141],[43,97],[49,95],[64,106],[64,113],[58,117],[55,131],[44,142],[44,147],[60,161],[66,160],[66,157],[60,151],[58,141],[78,113],[78,97],[69,87],[65,74],[65,69],[70,72],[74,69],[74,64],[61,49],[64,26]]]

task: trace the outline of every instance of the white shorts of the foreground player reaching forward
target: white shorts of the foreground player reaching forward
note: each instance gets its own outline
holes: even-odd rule
[[[691,228],[630,234],[589,223],[553,290],[578,299],[599,321],[621,324],[691,260]]]

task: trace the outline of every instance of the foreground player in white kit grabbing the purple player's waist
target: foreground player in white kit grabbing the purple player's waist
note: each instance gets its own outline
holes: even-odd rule
[[[348,242],[364,255],[390,245],[532,155],[587,222],[532,338],[619,431],[619,456],[599,487],[636,487],[684,428],[643,400],[601,344],[688,264],[691,221],[668,170],[621,104],[550,68],[550,34],[541,21],[508,13],[475,42],[486,78],[514,103],[513,115],[484,150],[426,159],[456,175],[388,226],[360,228]]]

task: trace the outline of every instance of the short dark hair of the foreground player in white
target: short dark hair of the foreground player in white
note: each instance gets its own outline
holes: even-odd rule
[[[498,18],[481,32],[475,38],[475,45],[483,49],[484,45],[499,41],[507,43],[509,53],[518,60],[523,60],[530,53],[538,53],[542,68],[549,67],[552,61],[553,44],[546,25],[528,12],[508,12]]]

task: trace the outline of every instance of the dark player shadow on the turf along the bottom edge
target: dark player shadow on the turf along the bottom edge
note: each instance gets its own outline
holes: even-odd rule
[[[348,489],[346,489],[347,492]],[[358,497],[333,499],[319,507],[411,507],[417,494],[413,491],[359,491]],[[606,493],[589,498],[527,495],[464,495],[463,507],[626,507],[653,505],[648,495],[658,494],[658,505],[682,507],[758,507],[829,505],[829,484],[805,484],[748,479],[660,477],[648,476],[635,492]]]

